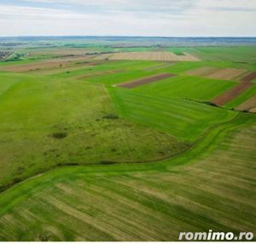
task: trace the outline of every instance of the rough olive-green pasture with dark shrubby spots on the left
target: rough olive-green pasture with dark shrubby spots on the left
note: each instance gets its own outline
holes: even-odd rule
[[[1,77],[2,190],[57,165],[157,161],[189,146],[120,118],[100,83]]]

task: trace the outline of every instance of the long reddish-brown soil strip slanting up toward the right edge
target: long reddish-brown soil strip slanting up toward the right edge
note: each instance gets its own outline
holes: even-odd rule
[[[236,96],[242,94],[247,88],[251,87],[253,83],[251,82],[241,82],[235,88],[231,88],[230,90],[224,92],[224,94],[220,94],[215,99],[212,99],[212,103],[218,106],[224,105],[227,102],[235,99]]]

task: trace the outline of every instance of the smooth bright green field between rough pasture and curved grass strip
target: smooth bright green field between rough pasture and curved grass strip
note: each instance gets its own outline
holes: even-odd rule
[[[189,142],[195,141],[210,125],[236,115],[195,101],[136,93],[123,88],[112,89],[111,94],[125,118]]]

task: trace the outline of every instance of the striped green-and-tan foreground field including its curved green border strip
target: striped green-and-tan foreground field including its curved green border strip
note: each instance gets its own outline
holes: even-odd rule
[[[174,165],[193,164],[62,167],[16,185],[0,195],[0,240],[177,241],[186,230],[252,231],[255,118],[240,114],[210,134]]]

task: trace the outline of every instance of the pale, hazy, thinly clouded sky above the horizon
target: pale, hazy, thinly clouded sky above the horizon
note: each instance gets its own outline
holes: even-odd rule
[[[0,36],[256,36],[256,0],[0,0]]]

